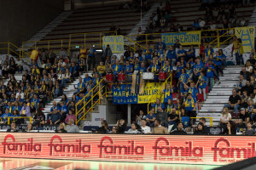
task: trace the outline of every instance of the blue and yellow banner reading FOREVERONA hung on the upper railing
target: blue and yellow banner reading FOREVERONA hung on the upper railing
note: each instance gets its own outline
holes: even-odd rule
[[[173,45],[175,40],[178,39],[182,45],[201,44],[201,31],[188,31],[188,32],[177,32],[177,33],[162,33],[162,42],[166,45]]]

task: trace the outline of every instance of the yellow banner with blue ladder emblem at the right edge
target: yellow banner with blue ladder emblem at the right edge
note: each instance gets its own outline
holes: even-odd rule
[[[250,53],[254,48],[255,26],[236,27],[235,35],[241,38],[241,44],[244,53]]]

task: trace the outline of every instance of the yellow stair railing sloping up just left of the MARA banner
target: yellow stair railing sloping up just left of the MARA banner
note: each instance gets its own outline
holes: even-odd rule
[[[98,96],[99,96],[99,99],[101,98],[101,90],[102,90],[102,88],[104,87],[104,86],[102,86],[102,88],[101,88],[101,84],[102,84],[102,82],[104,81],[104,79],[102,78],[102,80],[100,81],[100,82],[98,82],[97,84],[96,84],[96,86],[94,87],[94,88],[92,88],[91,90],[90,90],[90,92],[88,93],[88,94],[86,94],[85,96],[84,96],[84,98],[83,99],[80,99],[79,100],[79,102],[76,104],[76,108],[75,108],[75,111],[76,111],[76,124],[78,124],[78,122],[80,122],[81,121],[81,119],[82,118],[84,118],[84,116],[91,110],[91,108],[93,108],[93,106],[98,102],[98,101],[96,101],[96,103],[95,104],[93,104],[93,99],[96,97],[96,94],[98,94]],[[95,91],[95,89],[96,88],[99,88],[99,90],[98,90],[98,92],[96,93],[96,94],[93,94],[93,92]],[[86,98],[88,98],[88,97],[90,97],[90,100],[88,100],[88,101],[86,101],[85,99]],[[100,100],[99,100],[100,101]],[[84,102],[84,105],[83,105],[83,107],[78,111],[78,105],[81,103],[81,102]],[[86,111],[85,109],[86,109],[86,106],[88,105],[88,104],[90,104],[91,103],[91,106],[90,106],[90,109],[88,110],[88,111]],[[83,116],[81,116],[80,118],[79,118],[79,120],[78,120],[78,114],[80,113],[80,111],[83,111],[83,113],[84,113],[84,115]]]

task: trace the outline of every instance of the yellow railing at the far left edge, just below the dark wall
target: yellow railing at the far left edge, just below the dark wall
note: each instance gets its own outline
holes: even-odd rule
[[[3,50],[4,53],[6,53],[8,55],[11,53],[14,53],[17,56],[19,56],[19,58],[23,57],[28,62],[31,62],[30,59],[27,59],[30,57],[30,54],[26,53],[21,48],[15,46],[15,44],[13,44],[12,42],[0,42],[0,50]]]

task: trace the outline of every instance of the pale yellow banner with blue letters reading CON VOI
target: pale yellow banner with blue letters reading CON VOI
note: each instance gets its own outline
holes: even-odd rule
[[[124,37],[123,36],[104,36],[102,37],[102,48],[105,50],[107,45],[112,53],[124,53]]]

